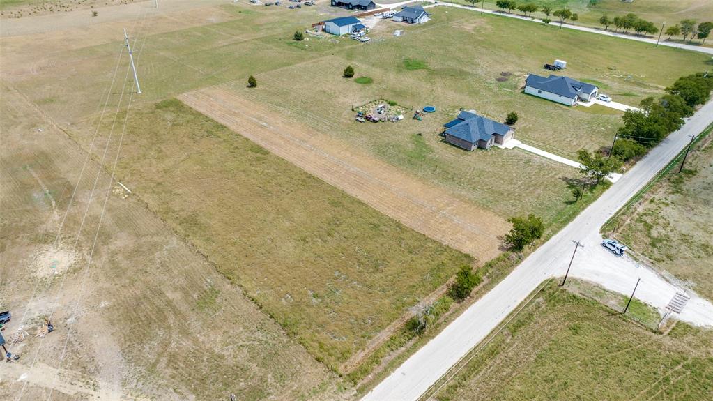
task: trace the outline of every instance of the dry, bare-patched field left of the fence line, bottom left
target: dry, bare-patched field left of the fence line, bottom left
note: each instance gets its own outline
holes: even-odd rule
[[[324,365],[110,180],[111,163],[88,161],[70,203],[86,152],[15,91],[1,96],[0,308],[7,339],[28,335],[0,366],[1,399],[340,397]],[[117,150],[115,136],[108,158]],[[49,316],[54,332],[35,337]]]

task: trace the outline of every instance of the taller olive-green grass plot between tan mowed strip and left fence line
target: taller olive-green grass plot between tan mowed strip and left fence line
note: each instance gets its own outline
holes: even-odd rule
[[[124,143],[117,176],[328,366],[473,263],[180,101],[133,110]]]

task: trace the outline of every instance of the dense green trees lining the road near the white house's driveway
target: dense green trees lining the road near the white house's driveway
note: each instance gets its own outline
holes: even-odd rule
[[[621,161],[641,156],[681,128],[694,107],[706,103],[713,91],[713,75],[694,73],[678,78],[660,98],[645,98],[639,111],[625,111],[611,154]]]

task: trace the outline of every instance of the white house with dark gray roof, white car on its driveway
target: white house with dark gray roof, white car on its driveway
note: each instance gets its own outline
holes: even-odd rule
[[[531,73],[525,80],[525,93],[574,106],[579,100],[590,101],[597,98],[599,88],[568,76],[550,75],[545,78]]]

